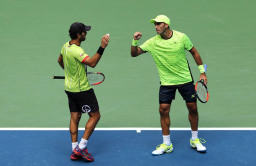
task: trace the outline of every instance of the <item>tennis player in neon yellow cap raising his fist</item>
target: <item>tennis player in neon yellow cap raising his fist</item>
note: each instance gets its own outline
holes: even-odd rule
[[[159,89],[159,113],[163,134],[163,143],[157,146],[152,155],[161,155],[173,151],[170,140],[170,107],[175,99],[175,92],[178,89],[188,108],[188,119],[191,123],[190,145],[197,151],[205,152],[206,148],[201,144],[205,140],[198,138],[198,111],[196,105],[196,94],[193,77],[185,56],[188,50],[199,66],[201,72],[199,80],[203,79],[207,84],[207,77],[204,65],[196,48],[188,36],[175,30],[170,30],[170,19],[165,15],[158,15],[150,20],[154,23],[157,36],[154,36],[138,47],[138,40],[142,33],[133,34],[131,56],[149,52],[157,65],[160,77]]]

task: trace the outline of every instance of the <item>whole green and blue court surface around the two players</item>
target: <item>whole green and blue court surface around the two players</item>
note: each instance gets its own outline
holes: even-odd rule
[[[1,0],[0,166],[255,166],[255,6],[253,0]],[[162,75],[156,50],[132,57],[131,48],[136,32],[142,34],[138,47],[157,35],[150,20],[158,15],[170,18],[172,33],[185,33],[207,64],[209,98],[196,102],[204,152],[191,147],[189,105],[177,90],[169,113],[173,151],[152,155],[163,143]],[[69,76],[58,63],[75,22],[91,26],[81,42],[86,55],[101,55],[97,66],[86,67],[89,84],[95,72],[101,80],[104,74],[103,82],[91,85],[100,112],[86,146],[93,162],[71,160],[63,79]],[[104,38],[110,39],[103,54]],[[185,47],[196,84],[201,71],[191,54]],[[89,106],[82,110],[78,143],[91,117]]]

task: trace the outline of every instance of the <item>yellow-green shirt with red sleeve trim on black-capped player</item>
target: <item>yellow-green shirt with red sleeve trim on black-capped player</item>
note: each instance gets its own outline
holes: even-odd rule
[[[69,92],[82,92],[91,89],[86,77],[85,59],[89,56],[84,49],[70,41],[64,44],[61,49],[65,68],[65,90]]]

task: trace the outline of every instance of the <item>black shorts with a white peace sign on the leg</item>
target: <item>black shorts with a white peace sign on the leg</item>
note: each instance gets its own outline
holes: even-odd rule
[[[68,92],[68,106],[70,112],[89,113],[99,110],[97,98],[91,88],[83,92]]]

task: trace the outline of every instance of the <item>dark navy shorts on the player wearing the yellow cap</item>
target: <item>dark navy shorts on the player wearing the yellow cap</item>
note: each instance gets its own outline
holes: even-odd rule
[[[159,89],[159,104],[171,104],[172,100],[175,100],[176,89],[178,89],[186,102],[196,102],[195,85],[190,82],[182,85],[161,85]]]

